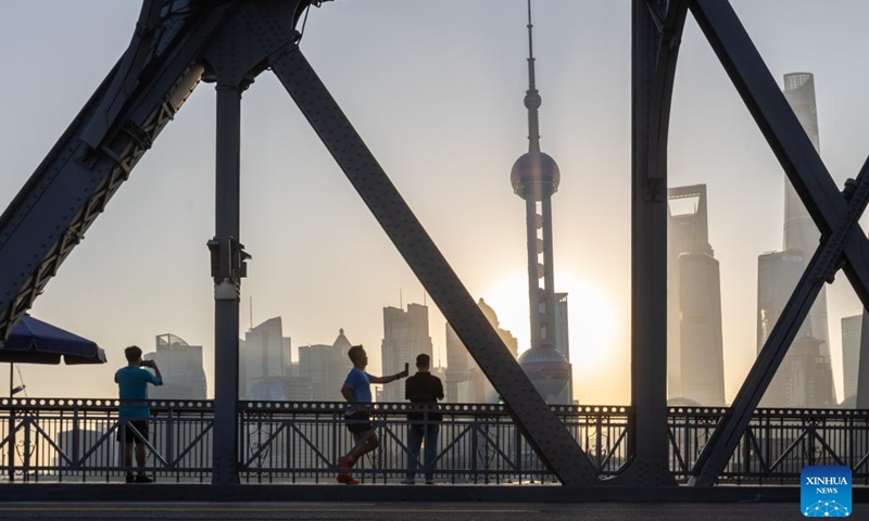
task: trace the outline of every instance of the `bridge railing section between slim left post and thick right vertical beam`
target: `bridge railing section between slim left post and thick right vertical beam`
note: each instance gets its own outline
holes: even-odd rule
[[[554,406],[601,475],[615,475],[628,459],[629,408]],[[345,404],[244,403],[243,479],[333,479],[335,462],[353,441],[344,428]],[[405,475],[407,414],[425,408],[375,404],[370,415],[380,446],[354,468],[364,481],[389,483]],[[550,474],[502,405],[442,404],[437,479],[449,483],[550,483]],[[421,456],[421,455],[420,455]],[[417,474],[421,469],[417,469]]]

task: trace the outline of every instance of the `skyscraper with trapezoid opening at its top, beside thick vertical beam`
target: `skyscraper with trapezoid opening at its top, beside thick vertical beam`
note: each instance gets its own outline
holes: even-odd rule
[[[721,282],[709,244],[706,186],[668,190],[667,391],[671,399],[725,405]],[[673,201],[695,202],[675,214]]]

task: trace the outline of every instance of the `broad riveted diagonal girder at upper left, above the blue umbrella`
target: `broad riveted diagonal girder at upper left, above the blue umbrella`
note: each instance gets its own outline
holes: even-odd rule
[[[142,7],[140,23],[153,23],[152,5],[151,2]],[[143,55],[141,39],[134,38],[124,56],[0,214],[0,339],[33,306],[199,84],[202,64],[198,56],[229,7],[223,2],[207,11],[194,10],[177,33],[166,37],[162,52],[146,63],[147,73],[138,80],[129,77],[129,81],[122,81],[118,74],[124,69],[131,74],[138,67],[131,58],[135,63],[125,65],[128,58]],[[136,91],[123,94],[129,102],[119,112],[110,111],[108,107],[114,105],[108,101],[108,93],[115,89],[119,97],[134,82],[138,85]],[[90,126],[110,113],[111,122]],[[93,136],[102,136],[98,148],[84,141],[86,128],[97,129]]]

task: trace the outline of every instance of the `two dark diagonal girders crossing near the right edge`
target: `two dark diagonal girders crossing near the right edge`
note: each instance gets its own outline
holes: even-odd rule
[[[856,192],[840,192],[730,3],[694,0],[691,10],[822,237],[736,399],[691,471],[690,484],[708,486],[727,466],[824,281],[843,268],[869,307],[869,241],[857,224],[869,198],[869,161]]]

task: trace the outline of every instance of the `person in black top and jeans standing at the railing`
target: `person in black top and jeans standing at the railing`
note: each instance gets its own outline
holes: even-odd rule
[[[436,412],[439,399],[443,399],[443,383],[430,372],[431,357],[421,354],[416,357],[416,374],[404,384],[404,397],[412,404],[434,405],[432,411],[411,412],[407,415],[407,474],[402,483],[415,483],[416,467],[419,463],[419,447],[426,442],[425,466],[426,484],[434,484],[434,459],[438,457],[438,434],[443,416]]]

